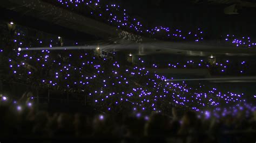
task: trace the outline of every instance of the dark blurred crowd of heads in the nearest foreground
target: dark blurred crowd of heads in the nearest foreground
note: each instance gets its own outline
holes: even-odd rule
[[[147,118],[126,113],[86,115],[37,111],[33,106],[21,110],[1,104],[1,135],[8,137],[71,139],[109,139],[113,142],[244,142],[254,141],[256,113],[220,119],[197,117],[196,112],[173,108],[170,115],[152,112]],[[22,140],[21,140],[22,141]],[[23,138],[24,141],[24,138]]]

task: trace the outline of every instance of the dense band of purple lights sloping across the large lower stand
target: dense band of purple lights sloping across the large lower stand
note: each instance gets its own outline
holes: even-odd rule
[[[26,45],[24,37],[17,36],[19,38],[14,42],[30,47]],[[37,41],[43,47],[43,44],[49,45],[48,42],[53,44],[54,40]],[[142,59],[139,59],[142,66],[126,67],[120,65],[118,61],[107,58],[100,60],[83,51],[62,51],[56,55],[49,50],[33,54],[31,51],[16,50],[14,54],[16,60],[8,60],[14,77],[22,76],[27,83],[37,79],[40,84],[50,88],[73,89],[77,92],[86,90],[89,92],[88,95],[94,98],[93,104],[103,111],[114,110],[113,104],[129,104],[129,108],[140,117],[151,111],[162,112],[159,103],[188,108],[216,117],[239,110],[255,110],[255,106],[243,98],[244,94],[221,92],[216,88],[208,90],[204,85],[192,88],[185,82],[169,82],[165,76],[150,73],[143,66],[145,61]],[[245,63],[241,62],[242,65]],[[223,104],[227,107],[221,108]],[[204,111],[205,108],[213,108],[213,113]],[[17,110],[22,110],[22,106],[18,105]]]

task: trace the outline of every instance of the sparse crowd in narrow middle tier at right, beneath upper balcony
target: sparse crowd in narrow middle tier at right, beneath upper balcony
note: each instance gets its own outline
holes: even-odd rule
[[[219,75],[255,75],[256,63],[249,58],[235,59],[231,58],[220,58],[215,61],[215,57],[196,59],[196,60],[170,60],[151,62],[145,64],[147,68],[155,69],[207,69],[213,76]]]

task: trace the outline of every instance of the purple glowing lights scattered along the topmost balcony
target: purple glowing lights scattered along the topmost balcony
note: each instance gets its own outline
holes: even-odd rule
[[[85,9],[89,15],[94,17],[107,19],[112,25],[116,25],[118,28],[123,28],[138,34],[156,35],[164,39],[176,39],[176,40],[193,40],[199,42],[204,40],[204,32],[200,28],[194,28],[190,31],[183,31],[177,28],[170,28],[165,26],[146,27],[143,22],[140,22],[136,17],[129,16],[126,9],[121,8],[118,4],[104,4],[99,0],[56,0],[67,8],[79,8],[79,10]],[[92,8],[93,7],[93,8]],[[235,35],[227,34],[224,38],[228,44],[233,46],[242,47],[255,47],[256,42],[252,42],[250,37],[237,38]]]

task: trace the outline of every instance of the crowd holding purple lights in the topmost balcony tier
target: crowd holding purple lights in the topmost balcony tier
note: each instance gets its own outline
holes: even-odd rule
[[[201,27],[197,26],[190,28],[190,30],[184,30],[181,27],[177,28],[166,25],[151,25],[151,23],[147,22],[147,19],[130,16],[130,10],[126,9],[124,5],[120,5],[121,2],[99,0],[44,1],[56,6],[60,6],[63,9],[79,13],[80,15],[105,22],[111,26],[116,26],[124,31],[137,35],[143,35],[144,37],[168,41],[200,42],[207,39],[207,35],[210,34],[206,33],[206,31],[204,31]],[[129,36],[133,37],[132,35],[133,34],[129,34]],[[132,40],[133,38],[130,39]],[[256,45],[250,37],[241,37],[230,33],[220,35],[218,39],[219,43],[223,45],[232,45],[234,47],[254,48]],[[141,42],[142,38],[138,37],[136,40],[133,39],[133,41]]]

